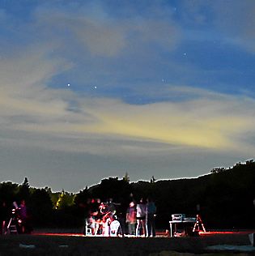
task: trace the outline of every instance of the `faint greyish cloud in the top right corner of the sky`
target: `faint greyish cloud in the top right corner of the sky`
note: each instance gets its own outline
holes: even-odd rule
[[[184,1],[183,19],[197,28],[209,26],[210,35],[229,45],[254,52],[255,2],[253,0]],[[208,29],[208,27],[206,27]],[[206,38],[208,37],[206,36]],[[217,38],[218,37],[218,38]]]

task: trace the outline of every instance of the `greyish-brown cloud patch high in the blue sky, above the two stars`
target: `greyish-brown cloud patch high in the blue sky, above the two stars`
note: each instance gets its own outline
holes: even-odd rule
[[[102,3],[84,4],[71,11],[67,6],[38,6],[34,13],[35,26],[49,37],[56,37],[56,40],[58,37],[64,45],[72,42],[70,46],[83,47],[84,53],[105,58],[143,52],[151,49],[151,44],[172,51],[181,38],[178,25],[167,11],[151,15],[150,19],[147,11],[143,15],[133,11],[129,16],[119,17],[114,11],[108,13]]]

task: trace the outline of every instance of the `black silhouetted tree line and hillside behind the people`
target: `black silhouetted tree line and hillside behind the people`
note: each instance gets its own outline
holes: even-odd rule
[[[157,207],[156,227],[169,228],[171,215],[201,215],[206,228],[255,227],[255,163],[238,163],[232,168],[215,168],[210,174],[179,180],[130,182],[125,177],[109,177],[79,193],[52,192],[34,188],[28,177],[22,184],[0,183],[0,201],[11,204],[25,199],[34,227],[83,227],[87,204],[92,198],[106,202],[113,198],[117,211],[125,215],[131,200],[150,196]]]

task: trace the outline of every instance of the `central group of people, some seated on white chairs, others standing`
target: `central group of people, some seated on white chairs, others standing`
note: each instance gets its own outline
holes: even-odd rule
[[[112,198],[106,203],[101,203],[100,199],[92,199],[84,234],[87,235],[89,228],[89,234],[95,236],[109,237],[114,233],[114,236],[121,237],[155,237],[156,207],[151,198],[147,198],[147,201],[141,198],[138,203],[132,200],[125,215],[117,211],[119,206],[119,203],[113,203]]]

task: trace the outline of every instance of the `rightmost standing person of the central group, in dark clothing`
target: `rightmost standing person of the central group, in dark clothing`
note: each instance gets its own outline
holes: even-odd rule
[[[146,207],[147,237],[155,237],[155,213],[156,213],[155,203],[151,198],[147,198],[147,207]]]

